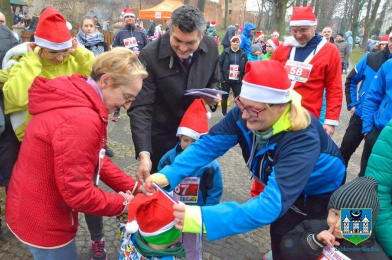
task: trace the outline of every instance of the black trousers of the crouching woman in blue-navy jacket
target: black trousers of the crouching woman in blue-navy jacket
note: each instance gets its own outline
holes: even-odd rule
[[[307,219],[327,219],[327,206],[331,196],[300,196],[294,205],[279,219],[271,223],[271,248],[273,260],[283,259],[280,253],[282,237]]]

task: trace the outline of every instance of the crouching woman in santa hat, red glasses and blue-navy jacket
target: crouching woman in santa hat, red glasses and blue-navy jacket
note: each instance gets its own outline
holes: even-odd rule
[[[270,226],[273,259],[281,259],[281,237],[303,220],[326,218],[331,194],[345,181],[338,147],[318,120],[301,106],[283,65],[248,62],[237,107],[190,145],[173,164],[149,177],[172,190],[195,169],[225,154],[238,143],[252,178],[263,192],[244,204],[210,207],[174,205],[176,227],[207,232],[215,240]],[[268,76],[266,76],[268,75]]]

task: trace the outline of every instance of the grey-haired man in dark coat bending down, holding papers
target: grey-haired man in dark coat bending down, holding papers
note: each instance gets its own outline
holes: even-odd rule
[[[197,98],[184,96],[184,91],[219,89],[218,48],[214,39],[203,37],[205,25],[199,9],[184,5],[171,15],[170,31],[140,52],[139,60],[149,76],[128,115],[136,157],[140,158],[137,178],[142,183],[178,142],[177,127]],[[203,98],[210,106],[218,102]]]

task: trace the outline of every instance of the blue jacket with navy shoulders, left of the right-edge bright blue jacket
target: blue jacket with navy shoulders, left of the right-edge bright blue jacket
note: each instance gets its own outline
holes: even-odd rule
[[[347,109],[356,107],[355,114],[362,116],[363,101],[369,90],[373,77],[381,65],[392,57],[388,48],[382,51],[366,53],[350,71],[345,86]],[[362,81],[358,91],[358,84]]]

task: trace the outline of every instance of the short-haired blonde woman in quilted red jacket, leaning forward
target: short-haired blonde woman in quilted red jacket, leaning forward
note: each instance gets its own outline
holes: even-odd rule
[[[37,77],[29,90],[29,122],[7,194],[11,231],[35,259],[77,259],[78,212],[117,216],[140,184],[105,156],[108,113],[128,109],[147,72],[136,55],[100,55],[90,77]],[[103,181],[118,192],[97,187]]]

